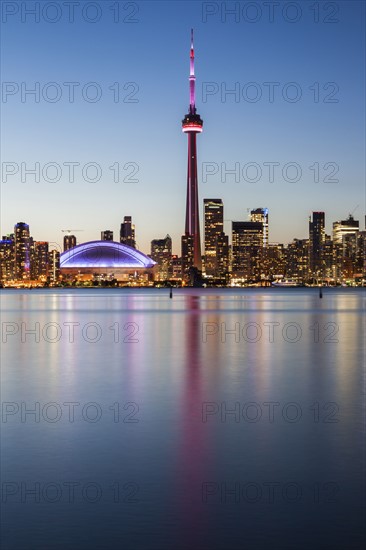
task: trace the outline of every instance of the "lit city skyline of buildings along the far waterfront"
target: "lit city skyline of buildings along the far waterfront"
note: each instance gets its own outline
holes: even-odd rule
[[[366,230],[360,230],[359,220],[351,214],[333,222],[332,235],[327,235],[325,213],[313,212],[309,218],[309,237],[293,239],[285,245],[270,242],[269,211],[257,208],[250,212],[249,220],[232,222],[229,244],[229,236],[223,230],[223,201],[204,199],[203,203],[202,271],[194,266],[192,246],[189,243],[187,246],[185,235],[181,256],[172,254],[172,239],[166,235],[151,241],[148,256],[140,253],[141,265],[129,261],[134,251],[137,253],[131,216],[124,217],[117,242],[113,231],[105,230],[100,241],[78,244],[76,231],[64,230],[63,252],[51,249],[47,241],[35,241],[29,225],[19,222],[14,232],[0,241],[1,284],[3,287],[365,286]],[[102,251],[103,243],[106,247]],[[70,268],[66,260],[79,258],[77,251],[84,261]],[[153,260],[151,264],[149,259]]]

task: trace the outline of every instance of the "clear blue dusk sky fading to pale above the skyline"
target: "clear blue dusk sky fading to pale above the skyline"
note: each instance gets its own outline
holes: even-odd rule
[[[3,4],[6,4],[3,2]],[[11,4],[17,4],[12,2]],[[40,3],[44,4],[43,2]],[[80,6],[86,2],[80,2]],[[314,22],[310,9],[314,2],[295,2],[302,15],[297,22],[286,21],[280,2],[274,21],[268,8],[257,5],[262,16],[249,23],[240,14],[221,20],[222,2],[211,3],[218,13],[204,22],[207,3],[137,2],[136,23],[113,22],[110,7],[114,2],[99,2],[101,19],[89,23],[75,8],[70,23],[63,2],[62,17],[39,23],[20,13],[2,24],[2,79],[41,88],[57,82],[62,89],[60,101],[42,97],[39,103],[20,93],[2,98],[2,162],[25,162],[29,167],[40,162],[96,162],[102,168],[99,182],[88,183],[76,169],[75,182],[67,168],[59,182],[49,183],[41,175],[21,182],[20,173],[2,177],[1,234],[25,221],[37,240],[61,243],[61,229],[83,229],[79,241],[98,239],[100,231],[112,229],[118,240],[124,215],[132,215],[138,246],[149,252],[150,241],[169,233],[173,249],[180,252],[184,229],[186,191],[186,136],[181,119],[188,107],[189,33],[195,29],[197,108],[204,120],[204,133],[198,137],[199,193],[203,198],[221,197],[227,220],[247,219],[248,209],[266,206],[270,215],[270,241],[289,242],[308,236],[308,216],[312,210],[326,212],[326,229],[334,220],[345,218],[356,205],[355,217],[364,228],[365,215],[365,4],[359,1],[336,2],[337,23],[329,7],[320,2],[320,21]],[[121,2],[121,19],[132,8]],[[232,7],[234,2],[227,2]],[[240,7],[245,2],[240,3]],[[332,3],[331,3],[332,4]],[[332,5],[333,5],[332,4]],[[34,2],[27,2],[29,7]],[[20,7],[20,3],[18,3]],[[329,3],[328,3],[329,6]],[[49,18],[55,12],[49,11]],[[93,11],[90,10],[90,17]],[[254,17],[250,12],[249,17]],[[294,17],[293,11],[288,11]],[[64,82],[80,82],[75,101],[70,103]],[[102,97],[96,103],[85,101],[80,92],[88,82],[97,82]],[[109,90],[114,82],[121,87],[136,82],[137,103],[115,103]],[[251,103],[243,97],[235,102],[220,93],[203,101],[205,82],[240,88],[256,82],[262,98]],[[264,82],[279,82],[274,101],[268,100]],[[281,90],[296,82],[302,91],[300,101],[285,101]],[[320,101],[309,89],[320,83]],[[323,99],[331,91],[322,90],[335,82],[339,91],[336,103]],[[91,90],[92,91],[92,90]],[[122,97],[131,89],[123,91]],[[293,90],[290,90],[292,92]],[[51,91],[50,91],[51,93]],[[253,89],[251,90],[253,93]],[[134,162],[139,166],[137,183],[113,181],[109,166]],[[220,172],[202,182],[202,163],[226,163],[232,168],[248,162],[258,163],[262,177],[256,183],[234,176],[221,181]],[[274,182],[269,182],[264,162],[279,162]],[[297,162],[302,177],[297,183],[284,181],[281,169]],[[339,165],[338,183],[314,182],[309,166],[319,162]],[[3,165],[4,166],[4,165]],[[91,173],[91,172],[90,172]],[[127,171],[122,170],[125,176]],[[201,215],[202,224],[202,215]],[[226,222],[230,232],[230,223]]]

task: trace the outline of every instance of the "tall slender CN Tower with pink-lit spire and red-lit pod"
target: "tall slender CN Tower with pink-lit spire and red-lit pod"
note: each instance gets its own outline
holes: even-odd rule
[[[196,77],[194,74],[193,29],[189,73],[189,112],[182,120],[182,130],[188,135],[187,203],[185,234],[192,238],[193,267],[202,270],[201,239],[198,211],[197,145],[196,135],[202,132],[203,120],[196,110]]]

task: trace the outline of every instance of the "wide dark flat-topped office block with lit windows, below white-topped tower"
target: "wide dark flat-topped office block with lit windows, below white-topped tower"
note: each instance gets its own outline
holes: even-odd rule
[[[232,277],[260,278],[262,260],[263,223],[232,222]]]

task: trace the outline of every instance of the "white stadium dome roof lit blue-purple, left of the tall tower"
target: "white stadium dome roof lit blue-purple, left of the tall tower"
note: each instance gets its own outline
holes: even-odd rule
[[[125,244],[114,241],[90,241],[63,252],[60,256],[62,270],[140,270],[154,267],[151,258]]]

